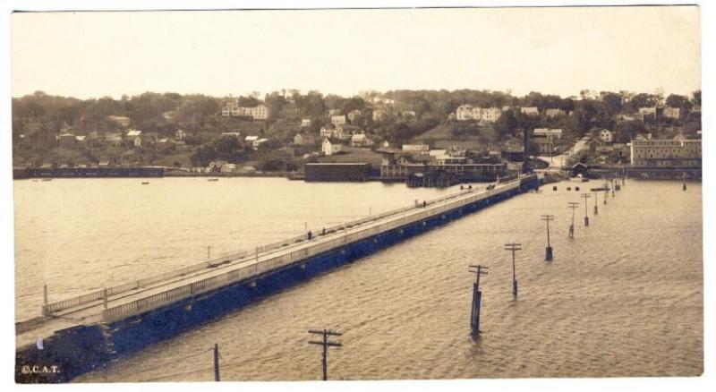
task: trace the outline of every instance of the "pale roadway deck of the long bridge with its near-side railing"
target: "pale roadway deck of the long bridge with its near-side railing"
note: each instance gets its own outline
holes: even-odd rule
[[[425,208],[423,208],[421,204],[419,206],[411,207],[409,209],[398,209],[396,211],[391,211],[386,214],[381,214],[374,219],[364,220],[361,223],[357,223],[352,227],[344,226],[340,230],[333,231],[333,233],[327,233],[325,235],[316,235],[311,239],[311,241],[290,243],[274,249],[259,251],[258,253],[254,252],[251,255],[247,255],[246,252],[243,252],[243,256],[237,257],[234,260],[224,260],[225,262],[223,264],[217,265],[216,267],[204,268],[195,272],[187,273],[181,277],[166,279],[164,281],[160,281],[152,285],[146,285],[141,288],[128,290],[123,294],[109,296],[107,298],[107,308],[110,310],[112,310],[113,308],[118,309],[118,307],[121,307],[123,305],[132,305],[133,303],[137,303],[142,299],[149,298],[152,295],[156,296],[158,294],[166,293],[169,290],[185,287],[187,285],[200,284],[202,281],[205,281],[206,279],[211,277],[222,277],[226,276],[226,273],[228,272],[238,273],[251,267],[257,268],[265,261],[286,260],[286,258],[295,260],[295,255],[300,256],[305,254],[308,256],[311,254],[315,254],[317,251],[320,251],[322,249],[327,249],[328,246],[335,247],[335,243],[337,243],[337,240],[343,239],[344,241],[340,242],[342,244],[345,244],[346,242],[350,243],[350,241],[347,241],[347,239],[351,238],[352,234],[357,234],[358,232],[377,234],[382,230],[388,231],[385,229],[386,224],[393,223],[395,225],[400,224],[401,222],[414,221],[415,219],[420,219],[422,217],[439,215],[445,209],[451,208],[451,206],[455,206],[457,202],[476,200],[476,197],[486,197],[489,196],[490,193],[500,193],[508,189],[513,189],[514,187],[515,182],[510,182],[499,184],[492,191],[486,190],[484,188],[465,190],[463,192],[448,195],[439,200],[430,200],[429,204]],[[392,227],[397,227],[394,225]],[[371,229],[373,229],[372,232],[370,231]],[[375,230],[379,231],[375,232]],[[262,268],[264,269],[262,272],[258,269],[255,269],[254,276],[259,275],[260,273],[269,273],[271,272],[271,270],[280,267],[281,266],[279,266],[277,262],[273,262],[266,268]],[[242,278],[242,280],[245,279]],[[235,283],[235,280],[232,282],[227,282],[226,284],[228,285],[233,283]],[[203,287],[203,285],[201,287]],[[212,286],[208,288],[214,289],[217,288],[217,286]],[[167,300],[170,299],[167,298]],[[103,311],[105,311],[105,303],[101,299],[90,303],[84,303],[69,309],[55,311],[51,315],[48,315],[41,320],[36,320],[36,322],[32,323],[32,326],[22,328],[26,330],[19,330],[16,334],[16,344],[17,346],[31,344],[38,337],[51,336],[52,333],[59,329],[107,321],[105,320],[105,318],[103,318]]]

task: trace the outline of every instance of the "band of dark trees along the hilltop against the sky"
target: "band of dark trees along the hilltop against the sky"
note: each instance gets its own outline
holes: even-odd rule
[[[254,92],[238,97],[239,105],[255,106],[265,104],[270,110],[268,122],[242,122],[221,115],[221,107],[227,97],[209,97],[201,94],[177,94],[173,92],[146,92],[137,96],[115,99],[109,97],[77,99],[51,96],[37,91],[21,98],[13,98],[13,152],[23,149],[30,155],[42,156],[58,145],[57,135],[63,129],[75,134],[108,132],[118,128],[112,116],[129,118],[131,127],[143,132],[156,132],[161,137],[172,137],[175,131],[187,133],[186,144],[203,146],[198,151],[197,161],[204,161],[206,152],[218,151],[213,146],[214,136],[220,132],[243,131],[260,134],[286,144],[296,132],[296,123],[302,118],[311,118],[310,132],[317,133],[321,126],[328,124],[328,111],[347,114],[360,110],[354,125],[368,133],[375,141],[401,143],[445,122],[463,104],[476,107],[513,107],[505,111],[498,121],[491,125],[490,139],[505,139],[516,129],[530,130],[536,127],[558,127],[575,137],[589,132],[593,127],[619,131],[618,137],[626,140],[644,131],[648,126],[641,120],[623,121],[619,115],[635,113],[640,107],[654,107],[657,104],[681,108],[683,118],[667,119],[666,122],[685,124],[700,129],[700,115],[690,115],[694,107],[701,106],[701,91],[691,97],[671,94],[664,97],[661,92],[632,93],[628,91],[583,90],[577,97],[562,98],[558,95],[531,92],[517,97],[509,91],[477,89],[440,90],[392,90],[386,93],[362,92],[356,97],[324,95],[311,90],[302,94],[298,90],[281,90],[266,94],[262,99]],[[549,108],[562,109],[572,115],[555,117],[523,115],[517,107],[537,107],[541,112]],[[373,121],[374,110],[389,112],[388,118]],[[404,115],[409,113],[410,115]],[[656,122],[653,119],[652,122]],[[660,123],[663,124],[663,123]],[[470,125],[456,125],[456,135],[476,132]],[[484,132],[483,132],[484,133]],[[485,136],[482,134],[481,136]],[[226,146],[223,150],[226,151]],[[246,157],[249,151],[237,148],[227,154],[234,159]],[[248,158],[248,157],[246,157]]]

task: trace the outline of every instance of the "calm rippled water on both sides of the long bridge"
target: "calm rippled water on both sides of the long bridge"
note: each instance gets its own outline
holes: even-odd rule
[[[331,379],[453,379],[697,375],[703,370],[701,186],[628,181],[567,239],[558,184],[524,194],[312,279],[78,381],[320,379],[309,328],[337,328]],[[54,180],[15,182],[17,318],[50,300],[251,248],[452,190],[283,179]],[[541,214],[555,260],[543,261]],[[510,291],[517,255],[520,296]],[[473,275],[481,280],[482,337],[469,333]],[[171,364],[167,366],[167,364]]]

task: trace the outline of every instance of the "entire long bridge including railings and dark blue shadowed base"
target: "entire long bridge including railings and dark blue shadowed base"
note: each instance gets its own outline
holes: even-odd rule
[[[416,201],[404,209],[327,227],[325,233],[313,231],[311,239],[294,237],[47,303],[42,305],[41,317],[16,324],[16,367],[62,358],[66,367],[72,367],[62,377],[72,378],[97,362],[140,350],[261,296],[536,188],[540,181],[537,175],[522,175],[424,204]],[[34,347],[38,337],[47,339],[44,352]],[[81,352],[88,347],[90,359]]]

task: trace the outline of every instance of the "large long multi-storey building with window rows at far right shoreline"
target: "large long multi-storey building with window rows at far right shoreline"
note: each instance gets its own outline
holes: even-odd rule
[[[632,166],[701,167],[701,141],[697,139],[633,140]]]

